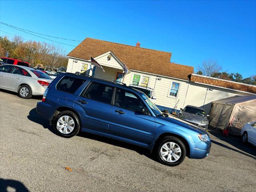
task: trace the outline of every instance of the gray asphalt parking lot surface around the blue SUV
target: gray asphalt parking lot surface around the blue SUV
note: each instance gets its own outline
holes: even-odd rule
[[[54,134],[36,113],[40,97],[0,90],[0,188],[10,191],[255,191],[256,148],[210,130],[202,160],[176,167],[137,146],[80,133]],[[72,171],[65,170],[72,168]],[[12,188],[10,187],[12,186]]]

